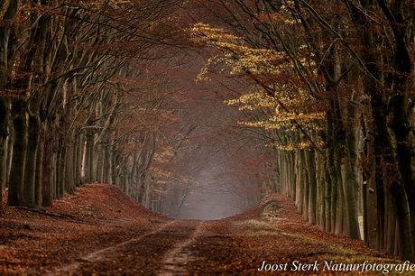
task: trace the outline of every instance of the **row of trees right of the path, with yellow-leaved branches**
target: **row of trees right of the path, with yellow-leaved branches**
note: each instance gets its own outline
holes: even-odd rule
[[[275,191],[311,224],[414,260],[412,1],[212,1],[189,29],[217,49],[199,78],[252,84],[227,102],[275,150]],[[214,9],[212,9],[214,10]]]

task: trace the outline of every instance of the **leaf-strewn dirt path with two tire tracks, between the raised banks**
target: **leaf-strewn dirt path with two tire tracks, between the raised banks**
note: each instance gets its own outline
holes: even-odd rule
[[[399,263],[319,234],[287,228],[281,217],[175,220],[45,275],[355,275],[365,262]]]

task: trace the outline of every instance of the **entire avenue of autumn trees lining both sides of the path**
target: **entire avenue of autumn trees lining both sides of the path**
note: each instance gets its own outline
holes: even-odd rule
[[[414,11],[409,0],[0,0],[0,187],[9,205],[41,208],[111,183],[174,216],[201,152],[232,149],[244,157],[224,150],[226,170],[257,171],[232,178],[246,201],[285,194],[310,224],[414,261]]]

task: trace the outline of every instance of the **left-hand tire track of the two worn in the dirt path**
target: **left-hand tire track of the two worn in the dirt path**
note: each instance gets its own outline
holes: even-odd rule
[[[167,222],[167,223],[161,225],[159,228],[157,228],[157,229],[155,229],[155,230],[153,230],[149,233],[146,233],[144,235],[140,235],[138,237],[135,237],[135,238],[130,239],[128,241],[125,241],[123,243],[115,244],[113,246],[109,246],[109,247],[97,250],[93,253],[88,253],[88,255],[85,255],[85,256],[81,257],[80,260],[77,261],[77,262],[72,262],[72,263],[63,265],[60,268],[58,268],[54,271],[45,273],[43,275],[44,276],[55,276],[55,275],[66,274],[66,273],[69,273],[69,272],[72,272],[72,271],[77,271],[78,268],[84,262],[97,262],[97,261],[100,261],[102,258],[106,257],[109,253],[113,253],[113,252],[117,251],[120,248],[123,248],[124,246],[126,246],[128,244],[133,244],[133,243],[139,242],[140,240],[142,240],[143,238],[145,238],[149,235],[158,234],[158,233],[162,232],[165,228],[169,227],[170,225],[172,225],[174,223],[177,223],[177,221],[173,220],[173,221]]]

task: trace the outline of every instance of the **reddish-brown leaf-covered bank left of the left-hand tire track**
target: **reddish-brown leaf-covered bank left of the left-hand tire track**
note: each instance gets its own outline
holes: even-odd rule
[[[106,184],[78,188],[43,213],[5,203],[4,208],[5,214],[0,215],[1,275],[41,275],[168,220]]]

